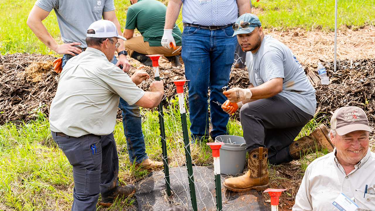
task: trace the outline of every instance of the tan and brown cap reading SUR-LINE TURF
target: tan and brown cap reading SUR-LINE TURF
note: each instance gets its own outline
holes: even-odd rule
[[[331,128],[336,130],[336,133],[340,136],[356,130],[372,132],[366,113],[356,106],[345,106],[337,109],[331,119]]]

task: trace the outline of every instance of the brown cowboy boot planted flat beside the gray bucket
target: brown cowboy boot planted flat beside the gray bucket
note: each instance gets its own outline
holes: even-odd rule
[[[249,153],[249,170],[245,175],[225,179],[223,185],[226,189],[243,192],[248,190],[266,190],[268,182],[268,149],[256,148]]]

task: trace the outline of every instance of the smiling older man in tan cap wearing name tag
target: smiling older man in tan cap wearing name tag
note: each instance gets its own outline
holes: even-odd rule
[[[375,210],[375,154],[366,113],[342,107],[333,113],[331,127],[335,150],[307,167],[293,211]]]

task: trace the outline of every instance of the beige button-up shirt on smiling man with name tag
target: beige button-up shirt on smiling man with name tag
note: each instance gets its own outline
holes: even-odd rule
[[[332,202],[341,193],[359,206],[357,210],[375,211],[375,153],[369,149],[355,169],[346,175],[335,152],[336,148],[307,167],[293,211],[338,211]]]

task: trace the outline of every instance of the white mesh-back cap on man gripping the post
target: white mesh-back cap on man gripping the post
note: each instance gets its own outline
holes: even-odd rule
[[[99,20],[95,21],[89,26],[90,30],[93,29],[95,34],[87,34],[87,37],[92,38],[112,38],[117,37],[123,40],[126,40],[123,36],[118,35],[116,25],[112,21],[108,20]]]

